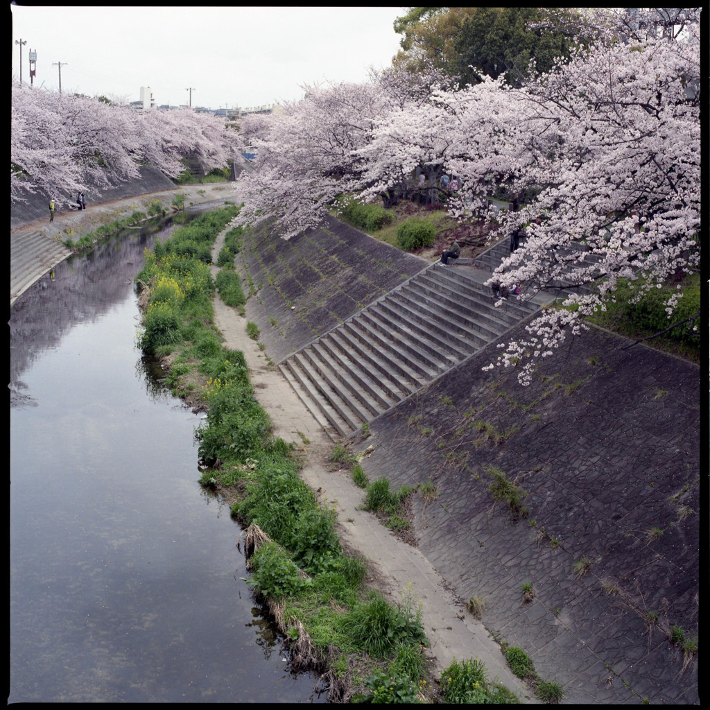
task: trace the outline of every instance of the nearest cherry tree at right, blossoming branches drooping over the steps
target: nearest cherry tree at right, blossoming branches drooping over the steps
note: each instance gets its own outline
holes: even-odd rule
[[[530,381],[537,357],[550,356],[569,332],[586,327],[584,316],[606,310],[620,279],[637,282],[638,300],[698,266],[699,31],[692,16],[684,20],[682,39],[650,23],[651,32],[642,28],[628,42],[599,41],[508,92],[518,116],[508,146],[518,146],[520,159],[510,178],[515,189],[540,193],[497,232],[529,223],[525,245],[493,278],[525,284],[528,295],[574,288],[496,361],[522,361],[521,383]],[[678,290],[667,300],[669,318],[680,297]]]

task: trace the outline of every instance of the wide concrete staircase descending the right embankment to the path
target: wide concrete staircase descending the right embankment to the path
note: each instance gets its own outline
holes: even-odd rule
[[[496,308],[486,278],[472,264],[431,264],[280,371],[327,431],[349,436],[540,307],[511,298]]]

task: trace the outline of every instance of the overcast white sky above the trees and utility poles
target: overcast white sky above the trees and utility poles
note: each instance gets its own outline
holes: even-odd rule
[[[300,84],[362,82],[399,48],[401,7],[71,7],[12,4],[12,72],[34,86],[212,109],[301,99]]]

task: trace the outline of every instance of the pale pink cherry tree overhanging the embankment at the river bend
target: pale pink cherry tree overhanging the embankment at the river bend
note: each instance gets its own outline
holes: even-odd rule
[[[371,174],[371,155],[361,152],[373,140],[378,121],[392,111],[408,115],[404,107],[421,107],[443,79],[438,70],[371,72],[366,84],[304,87],[305,98],[285,105],[282,114],[256,125],[245,121],[242,133],[258,148],[258,158],[256,170],[242,173],[237,182],[237,200],[244,202],[239,224],[274,219],[288,239],[320,224],[339,195],[361,197],[371,179],[381,182]],[[403,187],[391,180],[382,185],[373,195],[390,206]]]

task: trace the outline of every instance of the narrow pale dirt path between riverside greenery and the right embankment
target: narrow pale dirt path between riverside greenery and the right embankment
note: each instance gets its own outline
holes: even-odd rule
[[[223,241],[224,232],[214,245],[214,261]],[[216,274],[219,268],[212,266],[212,270]],[[302,478],[314,491],[320,491],[324,503],[337,510],[344,544],[366,557],[376,570],[371,584],[391,601],[400,599],[408,589],[415,602],[421,601],[422,621],[430,640],[428,653],[435,658],[439,672],[454,659],[478,658],[486,663],[491,679],[497,677],[518,698],[534,702],[528,688],[508,669],[498,643],[482,623],[471,617],[463,602],[446,589],[427,559],[415,547],[398,540],[374,515],[360,509],[364,493],[352,483],[347,471],[329,471],[333,442],[280,372],[268,366],[268,354],[246,334],[246,318],[215,296],[214,321],[222,332],[224,345],[244,353],[251,383],[259,403],[271,417],[274,435],[295,442],[302,450]]]

